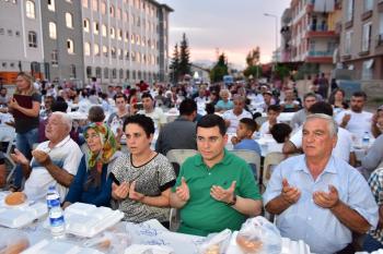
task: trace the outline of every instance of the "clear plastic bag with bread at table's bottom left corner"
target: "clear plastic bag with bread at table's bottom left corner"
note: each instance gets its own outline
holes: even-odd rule
[[[0,229],[0,235],[7,235],[0,238],[0,254],[19,254],[30,246],[26,234],[19,230]]]

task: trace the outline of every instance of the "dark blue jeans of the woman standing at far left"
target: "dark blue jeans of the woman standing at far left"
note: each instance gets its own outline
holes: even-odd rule
[[[32,158],[33,145],[38,142],[38,128],[32,129],[25,133],[16,134],[16,148],[27,158]],[[21,188],[23,182],[23,170],[20,165],[16,166],[13,174],[13,185]]]

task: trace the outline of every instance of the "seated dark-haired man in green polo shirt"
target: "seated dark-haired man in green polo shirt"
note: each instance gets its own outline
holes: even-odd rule
[[[239,230],[262,210],[259,189],[249,166],[228,152],[224,120],[216,114],[197,123],[199,154],[188,158],[172,189],[171,206],[181,211],[178,232],[207,235]]]

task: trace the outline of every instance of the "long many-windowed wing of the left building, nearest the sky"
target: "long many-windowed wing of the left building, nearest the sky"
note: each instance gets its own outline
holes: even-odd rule
[[[169,13],[153,0],[82,0],[85,76],[101,83],[164,81]]]

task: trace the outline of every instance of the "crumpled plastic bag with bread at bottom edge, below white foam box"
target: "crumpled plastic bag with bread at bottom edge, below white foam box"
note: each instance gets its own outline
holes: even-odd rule
[[[106,231],[100,237],[84,242],[84,246],[97,249],[100,251],[112,250],[114,253],[123,253],[131,243],[131,237],[128,233]]]

